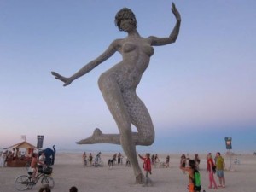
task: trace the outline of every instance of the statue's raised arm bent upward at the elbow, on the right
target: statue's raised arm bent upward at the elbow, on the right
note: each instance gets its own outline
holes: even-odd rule
[[[176,17],[176,25],[174,26],[169,38],[156,38],[154,36],[150,36],[149,39],[151,39],[151,45],[159,46],[165,44],[172,44],[176,41],[180,28],[181,16],[178,10],[176,9],[174,3],[172,3],[172,13]]]

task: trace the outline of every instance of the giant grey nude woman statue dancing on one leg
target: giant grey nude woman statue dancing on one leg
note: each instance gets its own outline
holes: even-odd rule
[[[154,143],[154,126],[148,109],[137,96],[136,88],[143,72],[149,64],[150,56],[154,54],[152,46],[172,44],[176,41],[181,17],[172,3],[172,13],[176,17],[176,25],[167,38],[150,36],[143,38],[137,32],[137,20],[131,9],[121,9],[115,16],[115,24],[119,31],[127,32],[127,37],[116,39],[108,49],[82,67],[77,73],[66,78],[52,72],[55,79],[64,82],[67,86],[73,80],[80,78],[90,70],[108,60],[115,52],[122,55],[123,60],[102,73],[98,85],[102,96],[108,105],[108,109],[115,120],[119,134],[103,134],[96,129],[91,137],[79,141],[79,144],[113,143],[120,144],[131,161],[137,183],[143,183],[144,177],[138,165],[136,145],[148,146]],[[131,131],[131,125],[137,128],[137,132]]]

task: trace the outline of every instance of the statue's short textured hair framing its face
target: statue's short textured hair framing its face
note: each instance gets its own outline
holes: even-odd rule
[[[115,26],[119,27],[119,31],[124,31],[120,26],[121,20],[124,20],[124,19],[133,20],[134,26],[137,27],[137,20],[134,13],[131,11],[131,9],[123,8],[123,9],[120,9],[119,12],[115,15],[115,20],[114,20]]]

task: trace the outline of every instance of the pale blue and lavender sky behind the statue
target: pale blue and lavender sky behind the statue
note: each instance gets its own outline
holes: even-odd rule
[[[175,1],[182,26],[175,44],[154,47],[137,94],[154,121],[155,143],[166,152],[256,150],[256,1]],[[114,26],[119,9],[137,16],[141,36],[166,37],[172,1],[0,0],[0,148],[26,135],[44,147],[83,150],[118,147],[75,144],[99,127],[118,129],[97,86],[119,53],[63,87],[50,72],[77,72],[124,38]]]

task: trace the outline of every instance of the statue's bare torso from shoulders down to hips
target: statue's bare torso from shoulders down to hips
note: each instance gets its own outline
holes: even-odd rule
[[[102,75],[116,79],[121,89],[136,88],[154,49],[147,38],[124,38],[118,41],[118,51],[123,60]]]

